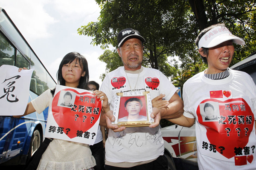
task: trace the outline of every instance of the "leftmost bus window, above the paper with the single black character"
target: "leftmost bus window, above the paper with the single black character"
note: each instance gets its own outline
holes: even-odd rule
[[[0,32],[0,66],[14,65],[15,49]]]

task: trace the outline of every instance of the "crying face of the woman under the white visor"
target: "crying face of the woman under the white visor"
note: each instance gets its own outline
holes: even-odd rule
[[[207,74],[216,74],[227,70],[232,61],[234,51],[235,48],[232,40],[222,42],[215,47],[209,48]]]

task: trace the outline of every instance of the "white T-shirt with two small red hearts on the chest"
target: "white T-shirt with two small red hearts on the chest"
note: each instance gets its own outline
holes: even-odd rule
[[[151,99],[166,94],[165,100],[169,100],[175,94],[177,88],[160,71],[145,67],[141,69],[143,70],[140,72],[137,85],[138,74],[127,73],[127,79],[123,66],[105,77],[100,90],[108,96],[111,110],[114,107],[116,93],[131,91],[131,88],[134,90],[135,85],[135,91],[150,91]],[[164,152],[160,126],[126,127],[122,132],[116,133],[109,129],[105,151],[106,160],[110,162],[140,162],[156,159]]]

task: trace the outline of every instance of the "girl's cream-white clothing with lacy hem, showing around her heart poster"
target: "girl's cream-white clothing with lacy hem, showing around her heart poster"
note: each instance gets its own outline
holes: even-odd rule
[[[37,113],[42,113],[48,106],[50,111],[52,99],[52,93],[48,89],[31,103]],[[95,165],[88,144],[53,139],[43,153],[37,170],[85,170]]]

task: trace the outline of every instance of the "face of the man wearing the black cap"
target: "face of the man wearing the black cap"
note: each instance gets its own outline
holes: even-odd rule
[[[125,70],[139,70],[143,60],[143,45],[137,38],[126,40],[123,45],[117,48],[122,58]]]

